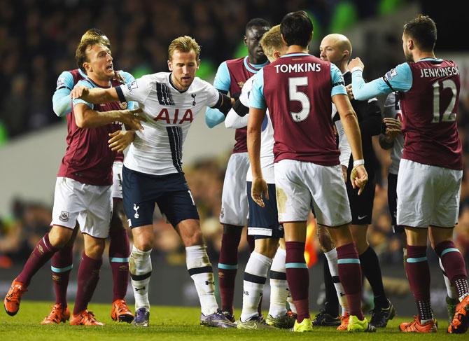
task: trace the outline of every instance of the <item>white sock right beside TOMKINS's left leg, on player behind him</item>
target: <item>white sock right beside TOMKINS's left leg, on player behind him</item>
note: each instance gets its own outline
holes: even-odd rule
[[[286,314],[288,283],[285,272],[286,251],[277,249],[270,267],[270,307],[269,315],[279,317]]]

